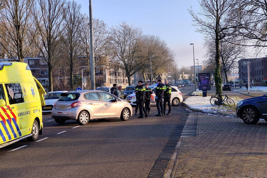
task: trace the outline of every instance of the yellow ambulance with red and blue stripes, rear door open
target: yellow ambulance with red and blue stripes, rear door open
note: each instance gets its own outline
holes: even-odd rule
[[[0,62],[0,148],[42,134],[43,94],[28,64]]]

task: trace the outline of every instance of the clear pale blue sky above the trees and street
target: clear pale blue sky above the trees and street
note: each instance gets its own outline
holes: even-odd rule
[[[76,0],[82,13],[88,14],[89,1]],[[144,34],[159,35],[175,52],[180,66],[192,66],[194,43],[195,59],[202,62],[205,52],[201,34],[195,32],[187,11],[193,6],[199,10],[197,0],[92,0],[93,18],[103,20],[109,27],[126,21],[143,30]]]

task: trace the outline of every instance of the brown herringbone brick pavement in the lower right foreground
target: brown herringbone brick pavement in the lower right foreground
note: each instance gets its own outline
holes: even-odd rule
[[[266,132],[264,120],[200,115],[199,136],[183,138],[171,177],[267,177]]]

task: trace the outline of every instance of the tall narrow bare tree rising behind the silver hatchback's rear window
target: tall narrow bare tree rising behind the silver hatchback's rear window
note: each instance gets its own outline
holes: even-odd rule
[[[70,72],[70,89],[73,90],[73,67],[81,52],[81,5],[75,1],[68,1],[65,5],[64,46],[67,52],[67,63]]]

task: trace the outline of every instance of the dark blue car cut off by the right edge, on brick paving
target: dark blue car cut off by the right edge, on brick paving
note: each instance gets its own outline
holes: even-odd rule
[[[267,94],[239,101],[236,114],[246,124],[256,124],[260,118],[267,122]]]

